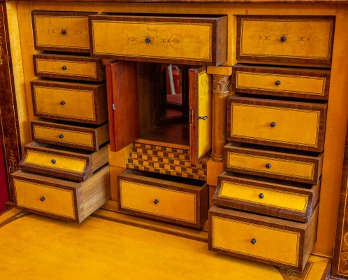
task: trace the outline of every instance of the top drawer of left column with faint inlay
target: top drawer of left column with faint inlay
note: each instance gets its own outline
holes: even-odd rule
[[[36,50],[89,52],[88,15],[95,14],[34,10],[31,22]]]

